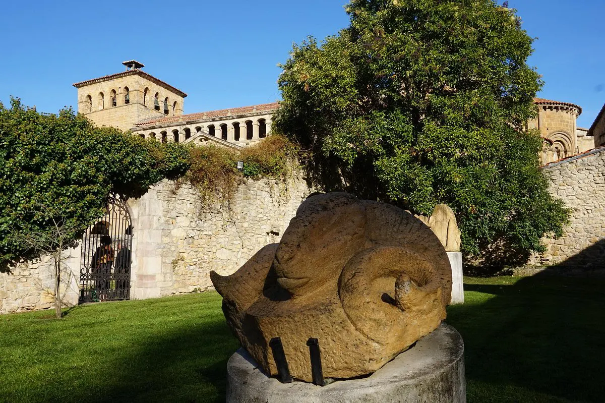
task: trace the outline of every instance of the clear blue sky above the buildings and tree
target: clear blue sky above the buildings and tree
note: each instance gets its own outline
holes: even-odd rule
[[[0,13],[0,101],[39,111],[76,105],[74,82],[143,70],[185,91],[185,113],[279,99],[277,65],[293,42],[348,24],[346,0],[11,1]],[[546,82],[538,94],[577,103],[589,127],[605,103],[603,0],[509,0]]]

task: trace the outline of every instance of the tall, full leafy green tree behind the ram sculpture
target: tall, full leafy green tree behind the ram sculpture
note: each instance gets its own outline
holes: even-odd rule
[[[352,0],[350,26],[295,45],[275,128],[341,186],[430,214],[447,203],[463,247],[523,251],[567,217],[524,129],[541,87],[532,39],[492,0]],[[325,178],[324,178],[325,180]]]

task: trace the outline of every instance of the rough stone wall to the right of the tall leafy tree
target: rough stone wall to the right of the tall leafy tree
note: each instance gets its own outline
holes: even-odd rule
[[[573,209],[571,223],[558,240],[545,239],[547,251],[532,265],[590,268],[605,258],[605,148],[551,163],[543,168],[551,194]]]

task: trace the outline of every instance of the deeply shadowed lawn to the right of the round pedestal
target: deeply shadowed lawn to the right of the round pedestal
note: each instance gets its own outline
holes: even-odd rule
[[[465,341],[468,401],[602,402],[604,290],[600,279],[466,278],[447,321]]]

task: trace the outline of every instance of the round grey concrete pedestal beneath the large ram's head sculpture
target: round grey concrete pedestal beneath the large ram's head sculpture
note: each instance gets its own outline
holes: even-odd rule
[[[466,402],[464,344],[460,333],[446,324],[361,379],[324,387],[298,381],[282,384],[264,375],[240,349],[227,363],[227,381],[227,403]]]

